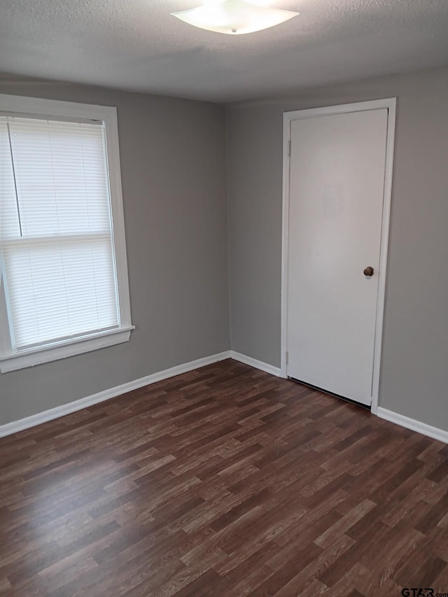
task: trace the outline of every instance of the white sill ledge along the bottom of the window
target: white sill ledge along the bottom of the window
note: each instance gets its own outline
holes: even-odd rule
[[[132,330],[134,330],[134,325],[128,325],[118,330],[71,340],[64,344],[57,344],[57,346],[42,346],[38,349],[0,356],[0,372],[8,373],[10,371],[17,371],[18,369],[25,369],[25,367],[50,363],[52,360],[59,360],[77,354],[104,349],[106,346],[128,342]]]

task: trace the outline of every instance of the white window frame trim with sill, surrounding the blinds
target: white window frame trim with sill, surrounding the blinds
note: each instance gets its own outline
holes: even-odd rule
[[[130,293],[127,274],[125,242],[125,220],[123,215],[123,194],[121,187],[120,149],[118,144],[117,109],[113,106],[78,104],[72,101],[23,97],[0,94],[0,115],[6,112],[29,118],[60,118],[63,120],[96,120],[104,125],[106,164],[109,175],[109,196],[111,202],[112,244],[116,264],[116,281],[120,326],[113,330],[94,332],[89,335],[48,343],[31,349],[14,351],[10,342],[10,328],[6,313],[6,293],[0,285],[0,330],[6,329],[8,338],[0,338],[0,372],[6,373],[32,367],[52,360],[59,360],[97,349],[121,344],[130,339],[134,325],[131,323]],[[1,258],[1,255],[0,255]]]

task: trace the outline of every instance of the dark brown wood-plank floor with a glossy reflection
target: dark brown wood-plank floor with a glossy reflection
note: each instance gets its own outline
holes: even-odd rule
[[[0,594],[448,593],[448,447],[232,360],[0,441]]]

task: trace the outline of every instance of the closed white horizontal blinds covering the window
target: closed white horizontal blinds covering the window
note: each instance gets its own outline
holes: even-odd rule
[[[102,123],[0,115],[0,274],[13,349],[118,328]]]

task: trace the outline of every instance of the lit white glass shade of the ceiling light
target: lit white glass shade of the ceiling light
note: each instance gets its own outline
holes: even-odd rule
[[[229,35],[268,29],[298,14],[292,10],[258,6],[244,0],[208,1],[204,6],[172,13],[174,17],[195,27]]]

